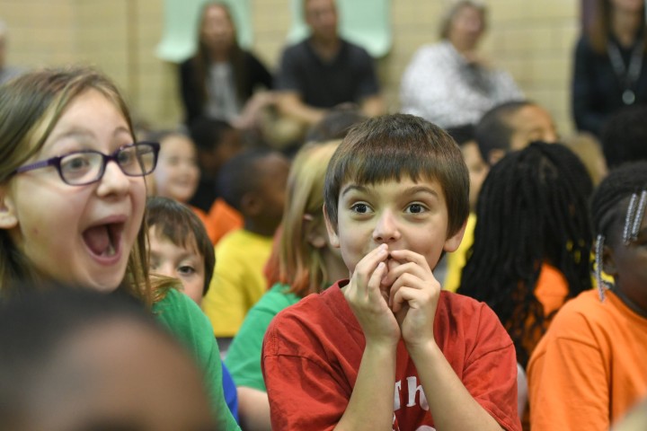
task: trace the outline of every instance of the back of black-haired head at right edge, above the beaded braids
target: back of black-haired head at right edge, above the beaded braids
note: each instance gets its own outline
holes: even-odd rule
[[[626,107],[612,115],[602,129],[600,142],[609,169],[647,160],[647,106]]]

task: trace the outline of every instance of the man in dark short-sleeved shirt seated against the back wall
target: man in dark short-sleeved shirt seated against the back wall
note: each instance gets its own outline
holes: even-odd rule
[[[341,39],[334,0],[304,0],[303,10],[311,34],[283,51],[276,83],[280,113],[304,127],[349,101],[367,116],[383,113],[373,59]]]

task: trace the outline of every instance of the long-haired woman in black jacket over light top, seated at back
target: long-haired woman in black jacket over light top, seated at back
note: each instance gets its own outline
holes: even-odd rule
[[[226,4],[208,3],[202,10],[198,50],[180,66],[180,89],[187,126],[200,116],[225,119],[248,128],[262,106],[271,101],[272,76],[261,61],[236,41]]]

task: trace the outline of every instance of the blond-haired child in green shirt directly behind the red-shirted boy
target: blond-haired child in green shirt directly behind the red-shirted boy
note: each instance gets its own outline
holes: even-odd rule
[[[246,430],[270,430],[270,404],[261,373],[265,330],[281,310],[321,292],[348,269],[328,241],[323,224],[323,180],[339,141],[310,144],[295,157],[288,177],[279,236],[279,279],[247,313],[226,356],[240,400]]]

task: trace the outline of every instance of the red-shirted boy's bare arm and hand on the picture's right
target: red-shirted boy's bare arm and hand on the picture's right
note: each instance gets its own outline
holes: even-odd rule
[[[420,375],[435,427],[501,430],[497,421],[467,391],[434,339],[440,284],[426,259],[406,250],[391,251],[391,256],[403,263],[386,277],[386,282],[393,283],[390,303]]]

